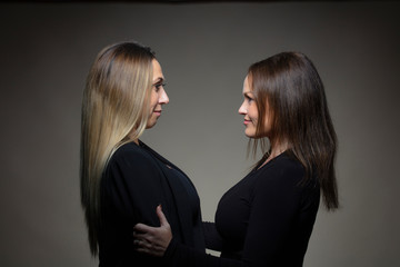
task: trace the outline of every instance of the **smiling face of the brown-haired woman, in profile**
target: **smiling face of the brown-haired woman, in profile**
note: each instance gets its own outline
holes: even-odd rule
[[[250,138],[256,138],[257,135],[257,122],[259,120],[259,112],[258,112],[258,108],[257,108],[257,103],[254,100],[254,96],[253,96],[253,91],[252,88],[250,87],[250,81],[249,81],[249,77],[247,76],[243,82],[243,97],[244,100],[242,102],[242,105],[239,108],[239,113],[244,116],[244,126],[246,126],[246,130],[244,134],[247,137]],[[268,132],[270,131],[270,122],[268,119],[268,113],[266,113],[266,125],[264,125],[264,129],[263,132],[266,132],[268,135]]]

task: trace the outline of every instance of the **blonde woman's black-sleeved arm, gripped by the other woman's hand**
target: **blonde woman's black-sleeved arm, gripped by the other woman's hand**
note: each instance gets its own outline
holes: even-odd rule
[[[160,166],[140,147],[127,144],[112,155],[101,181],[100,246],[106,265],[161,264],[160,258],[134,251],[132,237],[132,227],[139,221],[159,226],[154,212],[159,204],[164,206],[166,216],[170,218],[160,180]]]

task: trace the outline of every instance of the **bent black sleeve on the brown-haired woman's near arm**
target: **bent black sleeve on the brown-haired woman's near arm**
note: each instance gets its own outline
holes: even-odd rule
[[[248,231],[240,260],[200,254],[173,239],[166,251],[166,260],[180,267],[276,266],[274,263],[286,245],[291,230],[291,221],[301,199],[297,182],[293,182],[298,177],[297,171],[278,168],[269,170],[268,177],[259,179],[260,182],[254,186]]]

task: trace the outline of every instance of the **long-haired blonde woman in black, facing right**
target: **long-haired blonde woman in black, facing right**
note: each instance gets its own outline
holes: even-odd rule
[[[132,227],[159,226],[158,205],[180,243],[204,250],[192,182],[139,139],[168,102],[161,66],[149,48],[121,42],[100,51],[83,93],[80,166],[89,245],[100,266],[163,266],[133,251]]]

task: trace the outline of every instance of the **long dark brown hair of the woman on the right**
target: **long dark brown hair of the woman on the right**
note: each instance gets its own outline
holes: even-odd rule
[[[258,107],[258,145],[269,155],[263,126],[271,120],[270,140],[288,142],[288,152],[306,169],[307,181],[317,175],[328,210],[339,206],[334,160],[337,135],[329,113],[324,87],[316,67],[303,53],[282,52],[249,68],[249,81]]]

